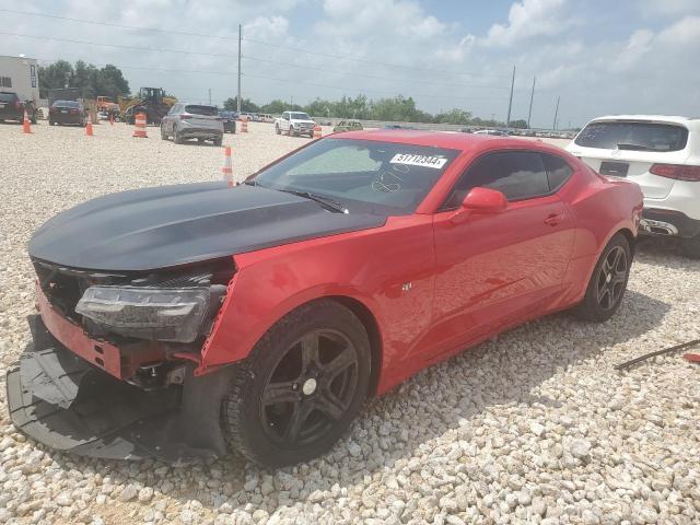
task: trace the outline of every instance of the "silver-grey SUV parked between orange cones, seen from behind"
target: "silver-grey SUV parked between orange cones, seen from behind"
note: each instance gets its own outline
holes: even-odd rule
[[[219,117],[219,109],[202,104],[176,103],[161,119],[161,139],[171,137],[176,144],[197,139],[199,142],[211,140],[214,145],[221,145],[223,121]]]

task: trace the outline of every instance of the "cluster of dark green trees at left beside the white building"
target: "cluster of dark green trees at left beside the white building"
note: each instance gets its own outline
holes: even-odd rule
[[[117,96],[129,95],[129,82],[121,70],[110,63],[97,68],[82,60],[78,60],[75,66],[58,60],[48,66],[39,66],[38,75],[42,98],[48,98],[49,90],[56,88],[78,88],[82,98],[104,95],[116,100]]]

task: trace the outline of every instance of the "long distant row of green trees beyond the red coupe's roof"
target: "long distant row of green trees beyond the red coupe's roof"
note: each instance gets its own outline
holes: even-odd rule
[[[228,98],[224,109],[235,110],[237,97]],[[282,112],[304,112],[315,118],[357,118],[360,120],[387,120],[400,122],[425,124],[457,124],[464,126],[503,127],[505,122],[494,119],[474,117],[470,112],[452,108],[435,115],[418,109],[412,97],[401,95],[371,100],[365,95],[355,97],[343,96],[338,101],[316,98],[306,105],[290,104],[281,100],[273,100],[267,104],[257,105],[249,98],[241,98],[241,110],[247,113],[266,113],[279,115]],[[525,120],[512,120],[512,128],[526,128]]]

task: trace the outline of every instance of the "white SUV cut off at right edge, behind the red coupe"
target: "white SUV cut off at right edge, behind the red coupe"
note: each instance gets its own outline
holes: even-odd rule
[[[567,150],[644,192],[641,233],[681,237],[700,258],[700,118],[619,115],[591,120]]]

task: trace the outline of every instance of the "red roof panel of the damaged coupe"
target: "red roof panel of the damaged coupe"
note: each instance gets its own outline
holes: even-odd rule
[[[524,143],[533,149],[557,149],[551,144],[528,139],[498,137],[492,135],[460,133],[458,131],[430,131],[422,129],[382,128],[346,131],[343,133],[329,135],[328,137],[338,139],[381,140],[386,142],[399,142],[405,144],[428,145],[463,151],[476,145],[487,147],[488,149],[489,143],[498,147],[498,149],[523,148]]]

